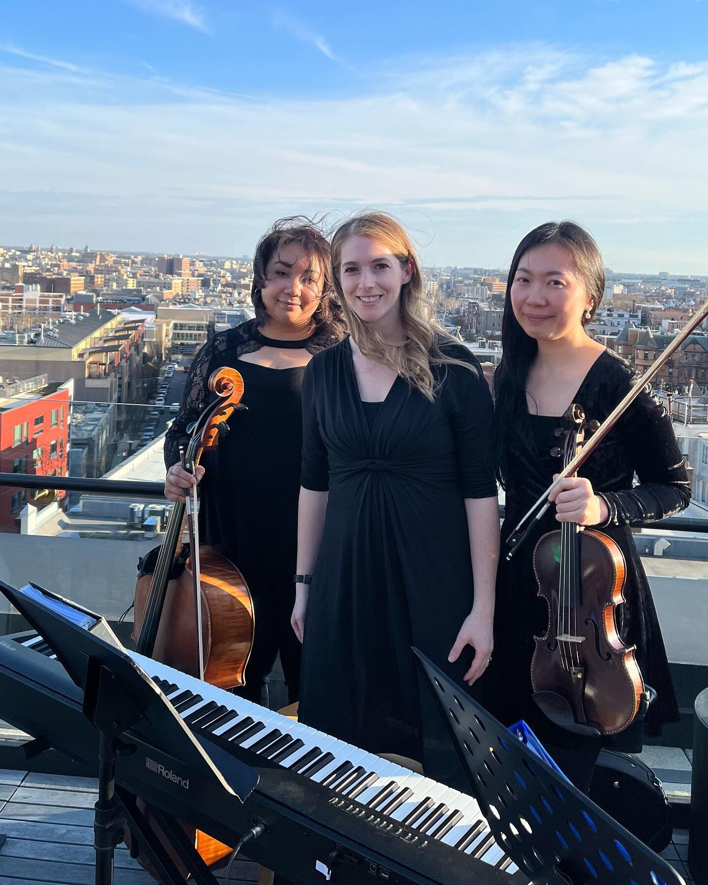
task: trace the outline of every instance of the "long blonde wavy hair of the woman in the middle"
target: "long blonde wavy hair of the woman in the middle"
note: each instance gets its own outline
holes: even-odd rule
[[[346,302],[340,268],[342,245],[350,236],[366,236],[370,240],[381,242],[404,267],[411,262],[412,277],[401,287],[401,296],[398,299],[404,333],[402,345],[385,341],[381,333],[371,324],[359,319]],[[423,292],[418,255],[404,227],[392,215],[387,212],[364,212],[337,227],[332,236],[332,265],[335,289],[342,304],[344,319],[351,337],[365,357],[393,369],[419,389],[430,402],[435,399],[439,385],[431,366],[463,366],[476,374],[474,366],[447,356],[441,350],[441,343],[455,342],[455,339],[432,319],[433,305]]]

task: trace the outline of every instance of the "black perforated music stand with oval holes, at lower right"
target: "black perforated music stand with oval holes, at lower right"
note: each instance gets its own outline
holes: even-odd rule
[[[412,652],[496,841],[535,885],[685,885],[425,655]]]

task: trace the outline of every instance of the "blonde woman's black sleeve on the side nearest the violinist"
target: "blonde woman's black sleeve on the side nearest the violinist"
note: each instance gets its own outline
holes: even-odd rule
[[[462,496],[496,497],[490,458],[494,407],[481,366],[476,359],[471,365],[476,371],[448,366],[450,417],[458,449]]]

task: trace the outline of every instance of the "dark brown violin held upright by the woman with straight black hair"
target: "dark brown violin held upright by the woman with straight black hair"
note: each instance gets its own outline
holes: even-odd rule
[[[566,415],[564,471],[579,453],[586,421],[578,404]],[[538,596],[548,606],[548,630],[535,636],[531,681],[535,703],[556,725],[583,735],[616,735],[640,713],[649,695],[635,659],[617,627],[625,603],[625,558],[611,537],[564,522],[534,549]]]

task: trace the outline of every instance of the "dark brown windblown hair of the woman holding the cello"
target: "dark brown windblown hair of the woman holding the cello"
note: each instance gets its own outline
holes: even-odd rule
[[[317,310],[312,314],[315,326],[341,328],[342,312],[335,298],[329,243],[322,234],[317,219],[309,219],[304,215],[278,219],[258,240],[256,254],[253,256],[253,284],[250,289],[250,300],[256,310],[258,326],[264,326],[268,319],[266,306],[261,297],[261,289],[267,282],[266,267],[273,255],[289,245],[296,245],[302,249],[311,263],[312,259],[316,259],[319,273],[322,274],[322,297]]]

